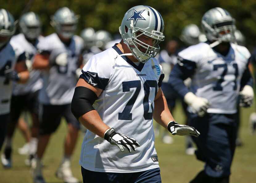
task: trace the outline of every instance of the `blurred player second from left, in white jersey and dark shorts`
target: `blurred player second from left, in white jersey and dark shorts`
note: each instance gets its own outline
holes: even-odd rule
[[[10,122],[7,128],[6,134],[6,146],[4,149],[5,156],[5,167],[11,167],[11,141],[14,134],[14,130],[18,123],[19,117],[24,110],[28,110],[32,117],[32,127],[29,145],[29,161],[33,158],[36,147],[37,147],[37,137],[39,133],[39,102],[38,94],[39,90],[42,88],[42,81],[40,79],[39,70],[31,70],[33,57],[37,53],[37,44],[42,40],[41,32],[41,22],[38,15],[34,12],[28,12],[23,14],[19,21],[19,26],[21,33],[15,35],[11,38],[10,43],[14,47],[17,54],[21,54],[25,51],[26,65],[28,70],[30,70],[30,78],[26,84],[14,83],[11,105],[10,105]]]

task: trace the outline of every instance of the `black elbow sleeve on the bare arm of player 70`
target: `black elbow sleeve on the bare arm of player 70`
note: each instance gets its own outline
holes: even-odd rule
[[[89,88],[78,86],[75,88],[75,93],[71,102],[71,112],[74,114],[76,119],[83,114],[95,110],[93,103],[97,100],[97,95]]]

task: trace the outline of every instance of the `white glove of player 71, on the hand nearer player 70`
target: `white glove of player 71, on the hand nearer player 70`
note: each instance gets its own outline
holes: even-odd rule
[[[197,97],[194,93],[188,92],[184,96],[184,101],[191,106],[192,112],[197,113],[198,116],[203,117],[209,108],[209,101],[206,98]]]

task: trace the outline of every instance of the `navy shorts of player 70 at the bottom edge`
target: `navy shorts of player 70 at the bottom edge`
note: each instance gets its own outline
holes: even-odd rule
[[[93,172],[81,166],[84,183],[160,183],[160,168],[135,173]]]

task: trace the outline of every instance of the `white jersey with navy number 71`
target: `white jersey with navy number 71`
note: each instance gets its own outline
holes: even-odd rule
[[[194,62],[195,74],[191,90],[210,102],[208,113],[233,114],[237,112],[240,82],[248,65],[250,53],[244,46],[230,43],[226,56],[214,51],[207,43],[199,43],[181,51],[183,62]]]

